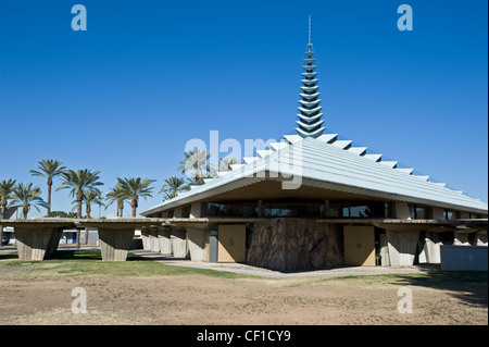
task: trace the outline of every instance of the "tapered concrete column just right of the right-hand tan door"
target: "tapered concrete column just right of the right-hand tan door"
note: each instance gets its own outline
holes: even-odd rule
[[[412,267],[416,253],[419,232],[386,231],[392,267]]]

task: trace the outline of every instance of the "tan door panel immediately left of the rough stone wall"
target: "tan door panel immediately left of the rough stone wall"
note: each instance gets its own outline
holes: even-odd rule
[[[217,261],[244,262],[246,235],[246,225],[220,225]]]

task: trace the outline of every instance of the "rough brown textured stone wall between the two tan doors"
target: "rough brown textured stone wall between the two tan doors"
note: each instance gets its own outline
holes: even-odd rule
[[[337,226],[291,218],[256,223],[247,263],[284,272],[341,265]]]

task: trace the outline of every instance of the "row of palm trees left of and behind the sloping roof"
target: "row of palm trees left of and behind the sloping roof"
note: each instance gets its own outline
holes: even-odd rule
[[[186,174],[181,176],[171,176],[164,179],[164,185],[158,194],[163,194],[163,199],[173,199],[179,193],[190,189],[192,185],[204,184],[205,178],[216,176],[218,171],[229,171],[230,165],[238,164],[235,158],[225,157],[220,161],[218,168],[210,163],[211,153],[205,150],[190,150],[184,153],[184,159],[179,161],[178,170]],[[85,202],[85,218],[91,218],[91,207],[97,205],[105,209],[115,203],[117,216],[123,216],[124,203],[131,207],[131,216],[136,216],[139,198],[152,197],[154,187],[151,185],[155,179],[141,177],[116,177],[117,183],[110,188],[103,197],[99,189],[103,185],[100,182],[100,171],[96,170],[71,170],[55,159],[42,159],[38,162],[37,170],[30,170],[33,176],[41,176],[47,179],[47,201],[40,196],[42,194],[39,186],[33,183],[17,183],[16,179],[0,179],[0,219],[4,219],[8,208],[21,208],[22,216],[27,219],[30,208],[40,212],[40,208],[47,209],[46,216],[67,216],[83,218],[83,203]],[[70,191],[70,197],[74,198],[76,214],[74,212],[51,211],[51,196],[53,179],[60,178],[61,185],[55,189]],[[1,232],[1,230],[0,230]]]

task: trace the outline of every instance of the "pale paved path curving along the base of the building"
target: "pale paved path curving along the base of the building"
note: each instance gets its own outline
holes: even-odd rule
[[[203,261],[190,261],[184,259],[175,259],[172,256],[164,256],[159,252],[151,252],[141,249],[130,250],[133,253],[141,256],[146,259],[152,259],[166,265],[186,267],[197,269],[211,269],[216,271],[234,272],[239,274],[269,277],[269,278],[292,278],[292,277],[308,277],[308,276],[322,276],[322,277],[336,277],[336,276],[358,276],[358,275],[380,275],[380,274],[405,274],[405,273],[419,273],[429,271],[439,271],[439,267],[404,267],[404,268],[391,268],[391,267],[343,267],[331,270],[317,270],[305,272],[284,273],[279,271],[273,271],[256,267],[251,267],[242,263],[211,263]]]

